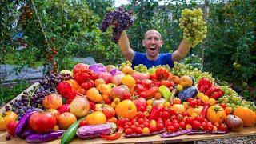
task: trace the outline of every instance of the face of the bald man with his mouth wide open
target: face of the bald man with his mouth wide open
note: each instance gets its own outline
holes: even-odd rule
[[[150,58],[155,58],[158,56],[158,52],[162,47],[162,39],[157,31],[150,30],[146,32],[142,44],[146,48],[146,53],[148,56]]]

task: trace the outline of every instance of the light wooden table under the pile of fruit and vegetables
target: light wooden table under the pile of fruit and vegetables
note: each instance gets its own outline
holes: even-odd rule
[[[29,91],[33,89],[34,86],[38,86],[38,82],[34,83],[32,86],[30,86],[25,91]],[[19,94],[16,98],[20,98],[22,94]],[[14,98],[14,99],[16,99]],[[14,101],[14,99],[12,101]],[[6,105],[9,105],[7,103]],[[0,112],[4,111],[4,106],[0,109]],[[206,139],[219,139],[219,138],[235,138],[239,136],[250,136],[250,135],[256,135],[256,126],[250,126],[250,127],[244,127],[239,132],[230,132],[229,134],[198,134],[198,135],[181,135],[174,138],[160,138],[159,135],[154,135],[150,137],[142,137],[142,138],[125,138],[122,136],[122,138],[119,138],[115,141],[106,141],[102,138],[95,138],[95,139],[79,139],[76,138],[72,143],[138,143],[138,142],[151,142],[151,143],[170,143],[170,142],[189,142],[189,141],[198,141],[198,140],[206,140]],[[22,144],[26,143],[25,140],[21,138],[14,138],[11,137],[10,141],[6,141],[7,133],[6,131],[0,131],[0,143],[10,143],[10,144]],[[60,143],[60,139],[50,141],[47,143]]]

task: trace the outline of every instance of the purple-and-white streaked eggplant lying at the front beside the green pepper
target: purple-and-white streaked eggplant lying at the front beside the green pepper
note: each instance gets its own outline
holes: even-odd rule
[[[76,134],[79,138],[97,138],[102,134],[111,134],[116,128],[117,126],[112,122],[102,125],[87,125],[79,127]]]

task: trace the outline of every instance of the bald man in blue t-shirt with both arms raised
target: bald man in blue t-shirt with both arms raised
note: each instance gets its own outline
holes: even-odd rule
[[[146,48],[146,53],[139,53],[130,48],[130,42],[125,30],[122,32],[122,35],[118,41],[118,46],[122,52],[122,55],[126,58],[126,60],[132,62],[133,68],[139,64],[143,64],[147,68],[166,64],[173,67],[174,62],[178,62],[182,58],[186,57],[186,54],[188,54],[190,51],[189,44],[187,44],[184,40],[182,40],[178,46],[178,50],[175,50],[173,54],[159,54],[159,50],[162,45],[162,36],[158,30],[154,29],[147,30],[142,41],[142,46]]]

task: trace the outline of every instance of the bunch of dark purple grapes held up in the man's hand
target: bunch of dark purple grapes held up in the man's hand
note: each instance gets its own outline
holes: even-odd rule
[[[119,38],[121,37],[122,31],[126,30],[129,26],[134,24],[134,20],[131,17],[131,14],[124,10],[122,7],[118,7],[117,10],[107,12],[105,18],[100,26],[100,30],[103,32],[106,29],[113,25],[113,42],[118,43]]]

